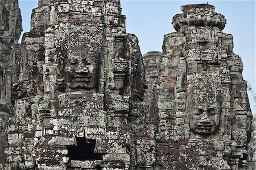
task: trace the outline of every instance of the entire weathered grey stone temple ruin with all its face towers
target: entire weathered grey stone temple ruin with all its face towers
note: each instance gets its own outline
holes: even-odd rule
[[[252,114],[226,19],[181,6],[142,56],[119,0],[39,0],[22,37],[0,0],[0,169],[253,169]]]

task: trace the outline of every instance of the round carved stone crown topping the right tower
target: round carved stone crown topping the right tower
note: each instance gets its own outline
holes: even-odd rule
[[[214,12],[215,7],[208,4],[181,6],[183,14],[177,14],[172,19],[176,31],[180,28],[210,27],[223,30],[226,24],[224,15]]]

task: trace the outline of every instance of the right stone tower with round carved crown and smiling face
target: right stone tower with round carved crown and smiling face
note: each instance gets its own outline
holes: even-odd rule
[[[164,166],[250,169],[252,114],[241,57],[222,32],[226,19],[212,5],[181,10],[172,22],[177,32],[164,36],[155,90]]]

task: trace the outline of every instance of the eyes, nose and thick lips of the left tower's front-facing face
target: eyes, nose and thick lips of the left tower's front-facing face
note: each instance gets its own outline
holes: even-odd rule
[[[65,64],[65,78],[71,89],[93,89],[93,63],[91,59],[70,59]]]

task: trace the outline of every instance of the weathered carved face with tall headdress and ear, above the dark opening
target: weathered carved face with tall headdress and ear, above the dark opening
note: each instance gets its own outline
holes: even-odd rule
[[[63,86],[61,91],[97,90],[102,55],[102,24],[68,23],[65,29],[63,27],[59,29],[68,32],[67,38],[63,38],[62,34],[57,37],[62,78],[60,86]],[[65,47],[64,51],[63,47]]]

